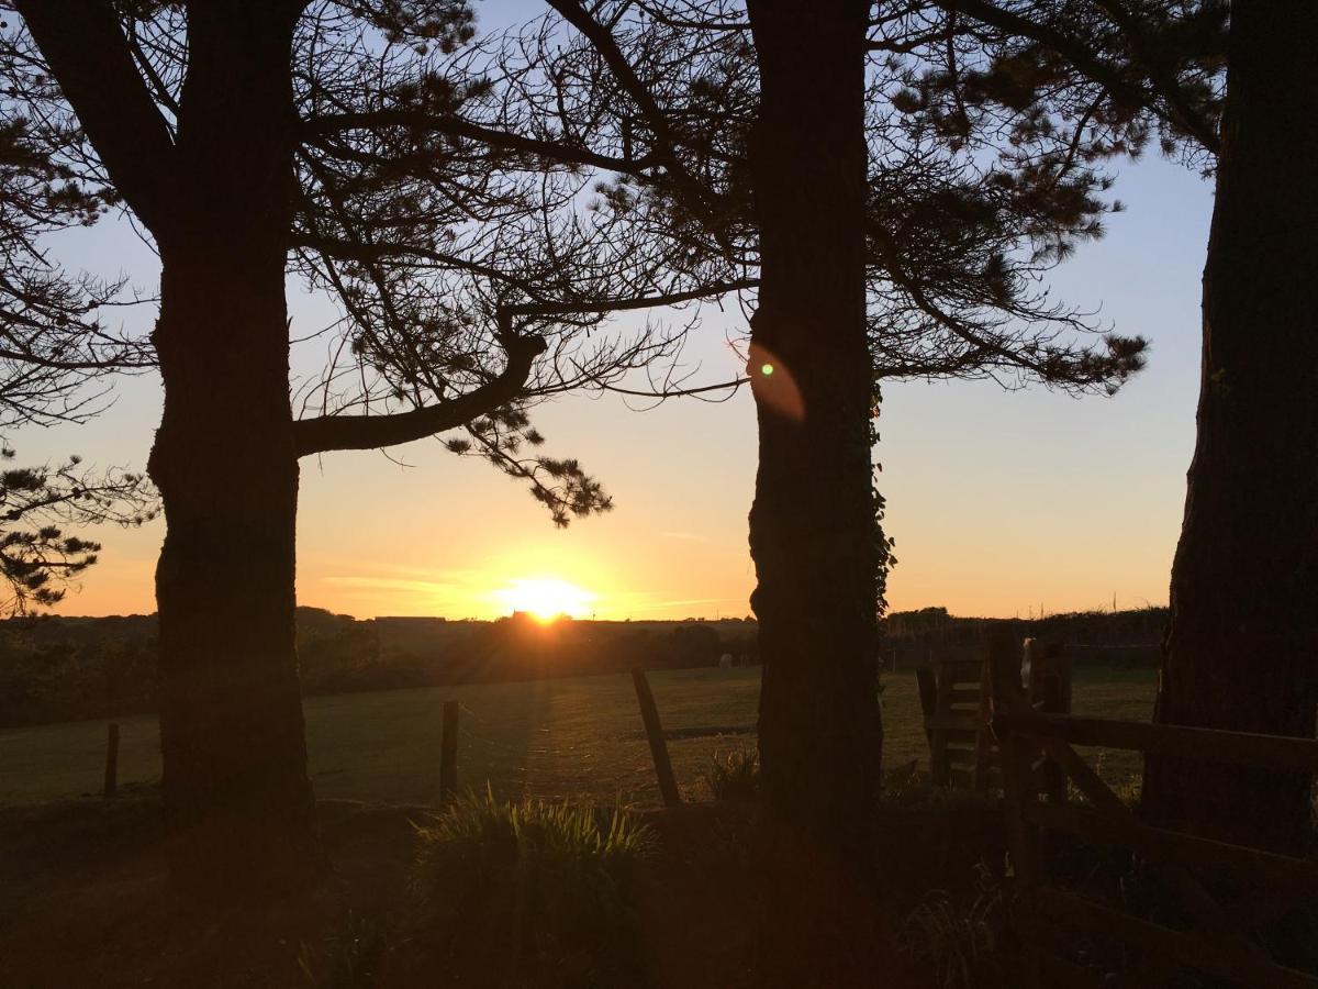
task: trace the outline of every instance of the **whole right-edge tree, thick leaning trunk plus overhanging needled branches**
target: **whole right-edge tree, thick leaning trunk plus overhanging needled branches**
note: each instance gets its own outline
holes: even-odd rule
[[[1224,0],[940,5],[990,32],[986,69],[962,91],[999,112],[1012,105],[1023,127],[1058,105],[1093,105],[1124,125],[1115,150],[1156,133],[1165,153],[1215,173],[1195,454],[1155,720],[1313,737],[1307,547],[1318,533],[1301,508],[1315,484],[1301,425],[1313,413],[1294,377],[1313,322],[1311,262],[1292,236],[1311,202],[1292,170],[1311,128],[1280,123],[1301,119],[1311,96],[1311,73],[1289,47],[1306,26],[1300,11]],[[945,102],[954,88],[942,87]],[[1144,810],[1294,852],[1310,831],[1310,786],[1304,774],[1151,758]]]

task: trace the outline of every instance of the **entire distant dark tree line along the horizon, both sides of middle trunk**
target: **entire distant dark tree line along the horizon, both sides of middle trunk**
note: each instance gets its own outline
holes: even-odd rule
[[[946,608],[895,612],[883,657],[899,669],[927,657],[977,657],[1010,626],[1072,647],[1077,663],[1156,666],[1166,608],[1073,612],[1043,620],[973,618]],[[17,618],[0,624],[0,727],[148,713],[156,709],[156,616]],[[1086,650],[1086,645],[1107,646]],[[298,608],[303,696],[546,676],[710,667],[724,653],[759,662],[753,621],[358,621]]]

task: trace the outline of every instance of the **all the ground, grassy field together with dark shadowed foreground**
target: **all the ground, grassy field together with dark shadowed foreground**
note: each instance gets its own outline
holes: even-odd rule
[[[710,754],[754,741],[758,670],[659,673],[651,680],[683,789],[688,798],[708,796],[700,773]],[[915,679],[890,674],[884,683],[887,765],[923,760]],[[1148,674],[1083,671],[1074,702],[1078,712],[1148,719],[1152,695]],[[629,676],[311,699],[311,771],[333,878],[308,899],[216,916],[179,902],[167,884],[154,785],[154,719],[121,719],[124,783],[108,800],[90,795],[103,771],[104,723],[5,732],[0,734],[0,984],[7,989],[442,984],[424,959],[418,971],[406,939],[395,936],[378,957],[362,945],[389,930],[405,901],[415,851],[411,825],[430,814],[422,804],[436,795],[444,700],[463,704],[465,785],[488,778],[509,795],[658,803]],[[1115,782],[1135,769],[1115,760],[1103,765]],[[986,836],[994,840],[998,815],[990,811],[979,820],[965,810],[929,819],[894,807],[880,841],[880,849],[894,853],[883,866],[888,880],[917,895],[942,885],[948,872],[966,874]],[[754,948],[753,884],[725,874],[745,851],[735,828],[720,816],[725,812],[726,807],[709,803],[646,811],[660,837],[641,907],[648,984],[656,989],[746,984]],[[962,824],[974,833],[963,833]],[[924,849],[919,854],[909,852],[916,845]],[[908,906],[899,905],[894,916]],[[876,952],[888,952],[882,959],[884,984],[924,989],[904,967],[904,956],[886,943],[875,940]],[[307,965],[320,967],[319,981],[306,977]],[[326,965],[330,981],[323,977]],[[370,967],[384,978],[344,981],[345,965]]]

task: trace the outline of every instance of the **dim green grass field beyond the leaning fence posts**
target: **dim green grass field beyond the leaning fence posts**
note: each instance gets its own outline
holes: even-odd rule
[[[699,791],[714,752],[754,744],[759,669],[677,670],[650,675],[673,769]],[[884,674],[887,767],[924,762],[913,674]],[[1079,670],[1077,713],[1148,720],[1155,674]],[[319,796],[378,803],[431,803],[438,791],[440,705],[463,704],[460,786],[536,796],[656,804],[650,750],[626,675],[493,683],[310,698],[304,703],[310,770]],[[119,779],[159,778],[156,717],[120,719]],[[0,806],[45,803],[99,790],[105,723],[38,725],[0,732]],[[1137,770],[1111,758],[1104,775]]]

